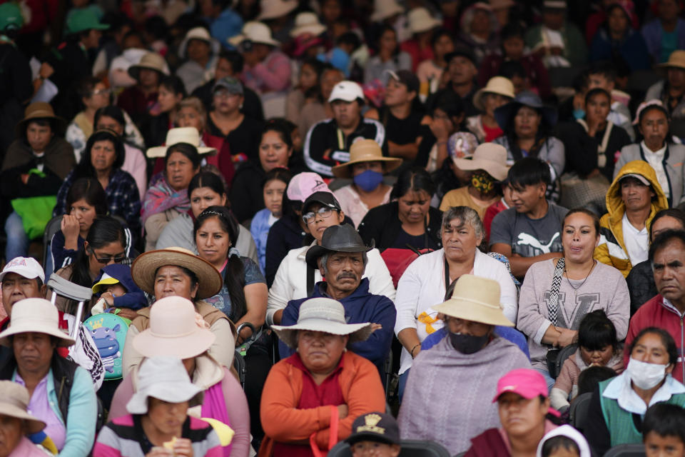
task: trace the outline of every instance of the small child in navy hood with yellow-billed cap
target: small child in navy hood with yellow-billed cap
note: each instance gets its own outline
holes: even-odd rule
[[[113,308],[111,312],[133,320],[138,316],[138,309],[148,306],[145,293],[133,282],[131,267],[122,263],[101,268],[100,275],[93,284],[93,295],[99,297],[91,309],[93,315],[109,312]]]

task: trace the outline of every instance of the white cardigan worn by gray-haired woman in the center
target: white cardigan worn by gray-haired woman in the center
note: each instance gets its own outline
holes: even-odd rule
[[[420,323],[418,316],[425,311],[428,316],[435,318],[437,311],[432,306],[445,301],[445,290],[449,284],[445,284],[444,259],[444,249],[418,256],[402,274],[400,282],[397,283],[397,299],[395,300],[395,307],[397,308],[395,334],[400,333],[405,328],[416,328],[419,341],[423,341],[428,336],[427,325]],[[473,274],[494,279],[499,283],[499,303],[502,305],[504,316],[507,316],[509,321],[516,323],[517,291],[512,276],[504,263],[476,249]],[[435,330],[442,328],[443,325],[442,321],[430,324]],[[402,348],[400,374],[407,371],[411,366],[412,357],[407,349]]]

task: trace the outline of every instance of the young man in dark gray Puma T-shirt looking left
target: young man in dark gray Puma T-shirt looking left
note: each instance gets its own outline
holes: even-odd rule
[[[507,174],[514,207],[492,219],[490,251],[507,256],[519,279],[533,263],[562,256],[560,232],[568,210],[545,199],[551,179],[546,162],[532,157],[517,161]]]

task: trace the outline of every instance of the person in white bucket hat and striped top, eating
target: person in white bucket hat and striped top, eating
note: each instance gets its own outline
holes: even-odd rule
[[[191,383],[184,361],[173,356],[148,358],[138,371],[138,391],[100,431],[96,456],[223,456],[210,423],[188,414],[202,389]],[[159,452],[162,448],[164,453]]]

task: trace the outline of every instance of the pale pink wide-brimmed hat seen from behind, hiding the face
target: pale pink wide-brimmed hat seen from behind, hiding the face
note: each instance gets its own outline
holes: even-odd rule
[[[150,326],[133,338],[133,348],[145,357],[191,358],[208,351],[216,336],[198,326],[193,302],[183,297],[164,297],[152,303]]]

